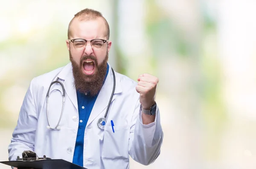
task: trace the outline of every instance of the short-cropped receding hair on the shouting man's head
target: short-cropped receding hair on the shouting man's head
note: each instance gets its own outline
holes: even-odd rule
[[[107,32],[106,32],[105,36],[109,40],[110,30],[109,30],[109,25],[108,25],[107,20],[105,19],[105,17],[102,16],[102,13],[100,13],[99,11],[93,10],[93,9],[89,9],[89,8],[85,8],[75,14],[75,16],[73,17],[73,19],[70,21],[70,23],[68,25],[67,38],[70,39],[70,36],[72,34],[72,32],[70,30],[70,26],[75,18],[79,18],[79,20],[81,21],[81,20],[95,20],[99,17],[103,18],[103,20],[105,21],[105,25],[107,28]]]

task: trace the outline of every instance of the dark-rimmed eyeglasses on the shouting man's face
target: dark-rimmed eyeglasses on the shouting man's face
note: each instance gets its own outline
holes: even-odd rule
[[[85,40],[85,39],[68,39],[70,42],[73,42],[74,48],[78,51],[84,50],[86,47],[87,42],[90,42],[91,47],[95,51],[99,51],[103,48],[104,43],[108,42],[108,40],[104,39],[92,39],[92,40]]]

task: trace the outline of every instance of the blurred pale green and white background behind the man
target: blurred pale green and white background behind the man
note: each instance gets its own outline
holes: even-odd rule
[[[256,1],[1,0],[0,161],[33,77],[69,62],[73,15],[101,11],[110,25],[109,63],[136,80],[159,78],[164,142],[150,166],[131,169],[256,168]],[[1,169],[8,166],[0,164]]]

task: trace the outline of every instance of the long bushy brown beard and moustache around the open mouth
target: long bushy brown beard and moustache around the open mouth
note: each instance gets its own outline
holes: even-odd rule
[[[103,62],[98,65],[98,62],[94,56],[83,56],[78,65],[70,54],[70,62],[73,67],[73,76],[75,80],[75,87],[80,93],[88,93],[90,96],[96,96],[102,88],[105,76],[107,73],[108,65],[108,52]],[[95,63],[95,69],[97,70],[93,75],[86,75],[81,72],[83,69],[83,61],[86,59],[92,59]]]

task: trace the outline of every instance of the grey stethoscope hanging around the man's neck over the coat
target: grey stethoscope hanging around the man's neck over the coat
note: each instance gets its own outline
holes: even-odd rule
[[[114,94],[114,91],[115,91],[115,88],[116,88],[116,76],[115,76],[115,72],[114,72],[113,68],[111,68],[111,69],[112,69],[113,78],[114,78],[113,90],[112,90],[111,97],[110,97],[110,99],[109,99],[108,107],[107,107],[107,110],[106,110],[106,113],[105,113],[104,117],[103,117],[103,118],[99,118],[98,121],[97,121],[98,127],[99,127],[100,129],[102,129],[102,130],[104,129],[104,127],[105,127],[105,125],[106,125],[106,123],[107,123],[106,117],[107,117],[107,115],[108,115],[108,110],[109,110],[109,107],[110,107],[110,104],[111,104],[111,100],[112,100],[112,98],[113,98],[113,94]],[[59,78],[57,78],[56,81],[54,81],[54,82],[52,82],[52,83],[50,84],[49,89],[48,89],[48,92],[47,92],[47,95],[46,95],[46,96],[47,96],[47,99],[46,99],[46,114],[47,114],[47,121],[48,121],[48,126],[47,126],[47,128],[48,128],[48,129],[52,129],[52,130],[60,130],[60,129],[61,129],[61,127],[59,126],[59,124],[60,124],[61,117],[62,117],[62,114],[63,114],[63,108],[64,108],[64,102],[65,102],[65,88],[64,88],[64,85],[63,85],[60,81],[58,81],[58,79],[59,79]],[[55,83],[60,84],[61,87],[62,87],[62,92],[63,92],[63,94],[62,94],[62,108],[61,108],[61,115],[60,115],[60,118],[59,118],[59,120],[58,120],[57,125],[56,125],[55,127],[51,127],[50,122],[49,122],[49,115],[48,115],[48,99],[49,99],[49,96],[50,96],[50,93],[49,93],[50,88],[51,88],[51,86],[52,86],[53,84],[55,84]],[[58,91],[61,92],[61,90],[59,90],[59,89],[55,89],[55,90],[58,90]],[[52,90],[52,91],[54,91],[54,90]],[[52,91],[51,91],[51,93],[52,93]]]

